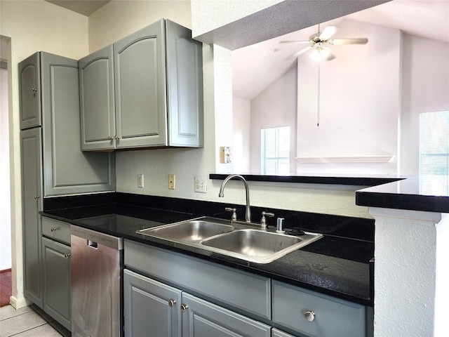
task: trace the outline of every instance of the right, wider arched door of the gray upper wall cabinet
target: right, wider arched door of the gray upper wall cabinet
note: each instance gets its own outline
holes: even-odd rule
[[[117,148],[166,145],[163,20],[114,44]]]

